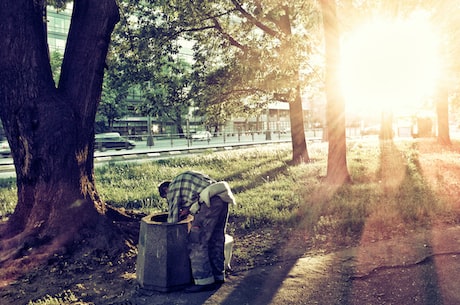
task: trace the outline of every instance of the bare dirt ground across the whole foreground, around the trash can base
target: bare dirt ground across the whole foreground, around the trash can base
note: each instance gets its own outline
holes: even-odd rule
[[[73,305],[460,304],[460,226],[412,232],[236,271],[215,292],[139,288],[135,258],[118,266],[65,260],[0,289],[1,305],[72,291]]]

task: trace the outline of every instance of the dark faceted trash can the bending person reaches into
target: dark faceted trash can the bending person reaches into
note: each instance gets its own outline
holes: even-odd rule
[[[136,278],[142,288],[169,292],[192,283],[187,235],[193,216],[171,224],[168,213],[142,218]]]

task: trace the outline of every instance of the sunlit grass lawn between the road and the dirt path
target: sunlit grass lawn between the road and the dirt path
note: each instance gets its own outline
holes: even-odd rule
[[[309,232],[313,246],[350,246],[364,238],[389,238],[443,219],[458,221],[458,210],[452,208],[449,196],[442,195],[443,173],[427,177],[424,166],[436,166],[422,164],[418,145],[409,140],[348,143],[353,183],[340,187],[322,183],[327,168],[325,143],[309,146],[314,161],[296,166],[289,165],[290,146],[279,145],[142,164],[107,164],[96,168],[95,174],[106,202],[145,213],[167,210],[157,185],[184,170],[229,182],[237,200],[230,209],[229,232],[257,240],[235,248],[234,256],[251,265],[256,257],[276,249],[275,243],[262,241],[262,236],[282,239],[299,228]],[[445,160],[447,167],[460,168],[455,153],[433,155]],[[16,189],[13,180],[0,181],[0,186],[0,213],[6,215],[14,209]],[[458,190],[450,192],[456,198]]]

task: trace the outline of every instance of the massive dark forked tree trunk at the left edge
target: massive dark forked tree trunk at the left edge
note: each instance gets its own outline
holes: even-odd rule
[[[56,88],[42,5],[0,4],[0,116],[18,188],[16,209],[0,232],[0,263],[36,249],[46,257],[105,223],[93,177],[94,121],[118,8],[114,0],[74,1]]]

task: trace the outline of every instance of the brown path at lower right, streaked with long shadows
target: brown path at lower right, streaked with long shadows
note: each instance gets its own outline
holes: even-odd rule
[[[442,227],[238,272],[214,293],[137,290],[130,301],[139,305],[454,305],[460,304],[458,274],[460,226]]]

